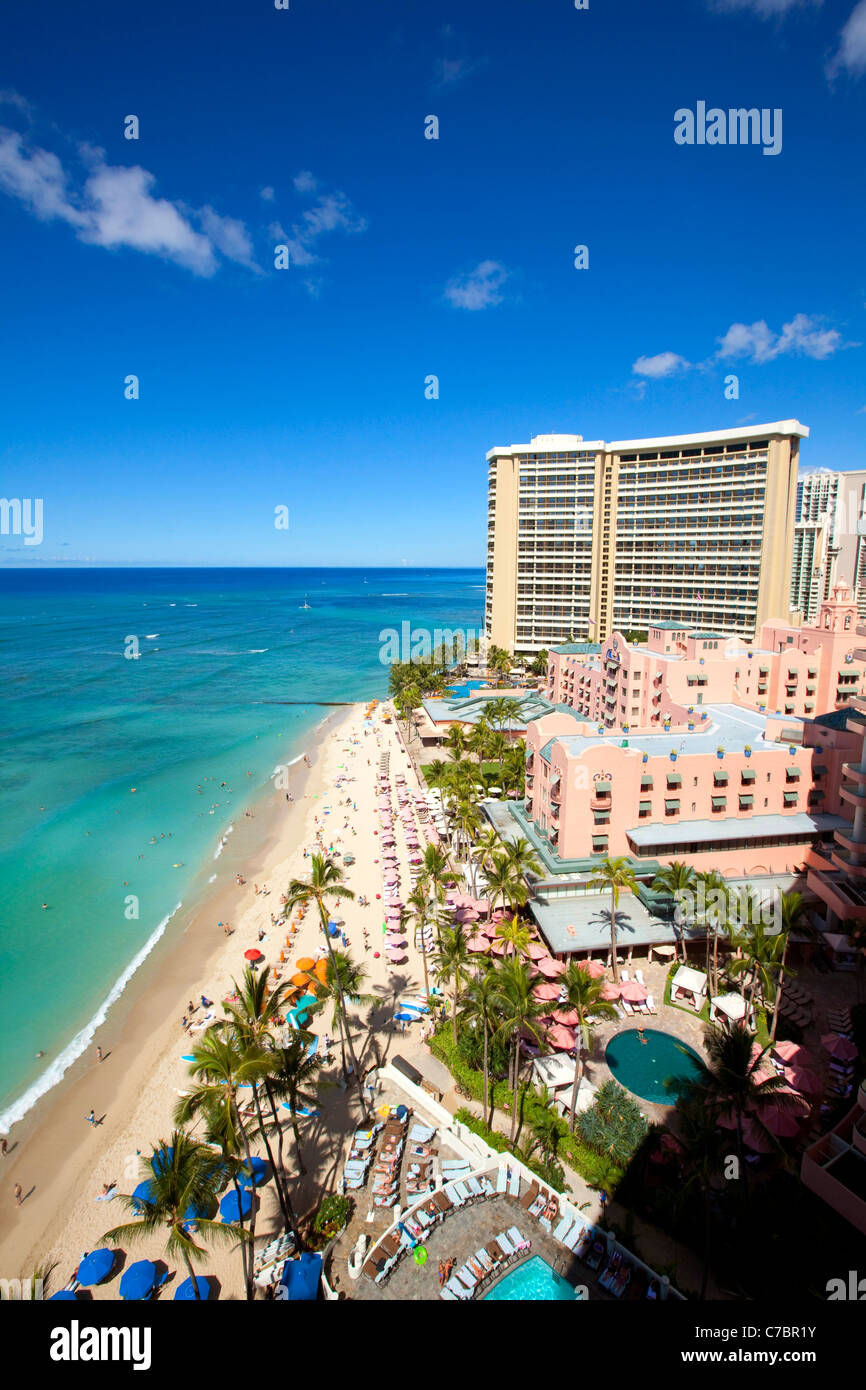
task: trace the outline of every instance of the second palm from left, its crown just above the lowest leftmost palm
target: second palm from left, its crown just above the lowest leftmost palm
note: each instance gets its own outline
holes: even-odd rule
[[[242,1086],[256,1087],[270,1070],[267,1054],[257,1045],[243,1045],[232,1034],[207,1029],[193,1047],[189,1074],[197,1079],[192,1091],[182,1095],[175,1106],[175,1123],[188,1125],[204,1115],[213,1130],[224,1136],[227,1154],[243,1150],[247,1170],[253,1172],[249,1129],[240,1115],[238,1091]],[[240,1194],[238,1194],[240,1195]],[[256,1238],[256,1204],[250,1213],[250,1244]],[[247,1261],[247,1298],[253,1297],[253,1262]]]

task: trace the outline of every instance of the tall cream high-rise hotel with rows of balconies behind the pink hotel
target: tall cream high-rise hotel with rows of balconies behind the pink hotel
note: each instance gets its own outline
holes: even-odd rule
[[[487,637],[538,652],[602,634],[751,637],[790,612],[796,420],[488,452]]]

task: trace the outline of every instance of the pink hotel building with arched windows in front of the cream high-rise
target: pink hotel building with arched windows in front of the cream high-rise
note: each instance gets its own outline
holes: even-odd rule
[[[582,877],[623,855],[638,874],[671,859],[798,874],[827,930],[865,919],[866,719],[845,709],[866,696],[858,621],[840,584],[812,626],[769,621],[748,644],[656,623],[641,645],[552,651],[524,813],[548,867]]]

